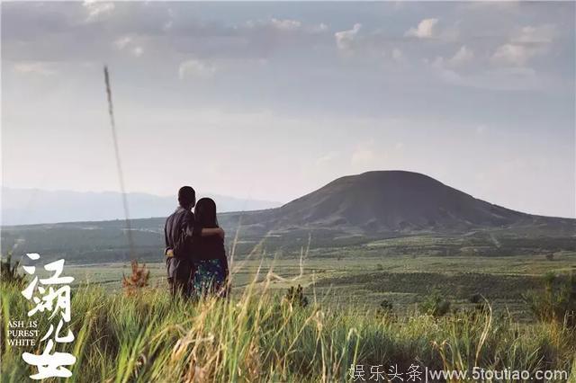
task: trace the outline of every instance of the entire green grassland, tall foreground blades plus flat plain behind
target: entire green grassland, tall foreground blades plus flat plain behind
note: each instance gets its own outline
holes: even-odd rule
[[[473,247],[463,241],[455,245]],[[565,280],[576,252],[437,251],[451,243],[426,236],[242,254],[230,262],[230,300],[202,304],[170,303],[161,262],[147,263],[148,288],[133,297],[121,290],[130,263],[67,263],[66,274],[76,278],[72,327],[79,356],[70,381],[345,381],[351,364],[574,370],[573,326],[537,321],[522,295],[545,289],[546,273]],[[283,298],[299,284],[308,307]],[[422,310],[432,292],[450,301],[446,316]],[[489,310],[474,308],[476,294]],[[392,310],[383,311],[383,301]],[[41,352],[5,342],[6,321],[25,319],[26,304],[19,291],[3,286],[2,381],[23,381],[30,371],[19,355]],[[446,380],[462,379],[439,379]]]

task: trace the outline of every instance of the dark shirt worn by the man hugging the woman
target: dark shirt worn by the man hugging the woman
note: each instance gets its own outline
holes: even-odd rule
[[[200,236],[202,227],[194,226],[194,214],[189,209],[179,206],[166,218],[164,237],[166,247],[172,248],[175,258],[193,260],[195,242]]]

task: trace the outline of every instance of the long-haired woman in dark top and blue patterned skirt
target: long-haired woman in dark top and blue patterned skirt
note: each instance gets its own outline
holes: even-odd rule
[[[194,217],[198,227],[219,227],[216,203],[210,198],[202,198],[196,202]],[[192,295],[200,298],[210,293],[220,298],[226,297],[229,270],[224,240],[221,236],[202,236],[197,246],[193,274],[190,278]]]

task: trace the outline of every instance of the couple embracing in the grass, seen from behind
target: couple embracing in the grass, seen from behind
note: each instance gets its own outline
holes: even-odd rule
[[[216,203],[210,198],[196,203],[193,188],[183,186],[178,191],[178,204],[166,218],[164,227],[166,271],[172,296],[225,297],[229,270],[224,230],[216,219]]]

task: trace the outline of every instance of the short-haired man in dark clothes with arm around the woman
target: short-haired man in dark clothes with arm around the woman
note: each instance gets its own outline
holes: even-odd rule
[[[178,208],[168,218],[164,226],[166,241],[166,271],[170,292],[175,297],[181,294],[188,297],[188,281],[193,271],[194,242],[199,236],[222,236],[220,227],[202,228],[194,225],[192,208],[196,203],[196,193],[191,186],[183,186],[178,191]]]

